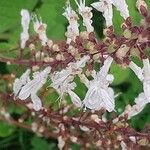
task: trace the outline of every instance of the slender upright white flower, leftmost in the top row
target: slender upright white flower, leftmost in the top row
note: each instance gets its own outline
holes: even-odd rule
[[[22,16],[21,25],[22,25],[23,31],[20,37],[20,41],[21,41],[20,47],[24,49],[26,42],[29,39],[28,30],[29,30],[29,24],[30,24],[30,14],[26,9],[22,9],[21,16]]]

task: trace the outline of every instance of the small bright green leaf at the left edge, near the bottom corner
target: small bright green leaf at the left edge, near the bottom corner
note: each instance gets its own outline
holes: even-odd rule
[[[7,137],[15,131],[15,127],[0,121],[0,137]]]

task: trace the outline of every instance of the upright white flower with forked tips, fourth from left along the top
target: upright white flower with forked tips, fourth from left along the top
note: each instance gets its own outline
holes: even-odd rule
[[[93,14],[91,12],[92,8],[85,6],[85,0],[79,0],[79,3],[77,0],[75,0],[75,2],[78,6],[79,14],[83,18],[83,25],[86,27],[89,33],[93,32],[94,28],[92,26],[92,20],[91,20],[91,18],[93,17]]]

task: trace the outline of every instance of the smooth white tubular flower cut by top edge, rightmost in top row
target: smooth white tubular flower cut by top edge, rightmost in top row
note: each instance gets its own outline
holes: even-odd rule
[[[121,16],[124,19],[129,17],[128,5],[125,0],[112,0],[113,5],[120,11]]]

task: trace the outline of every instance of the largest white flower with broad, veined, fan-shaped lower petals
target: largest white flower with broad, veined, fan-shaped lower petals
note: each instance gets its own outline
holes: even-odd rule
[[[108,87],[113,81],[113,76],[108,74],[113,58],[108,57],[100,71],[94,75],[94,79],[89,82],[88,91],[86,93],[83,104],[92,110],[100,110],[105,108],[109,112],[114,110],[114,92]]]

